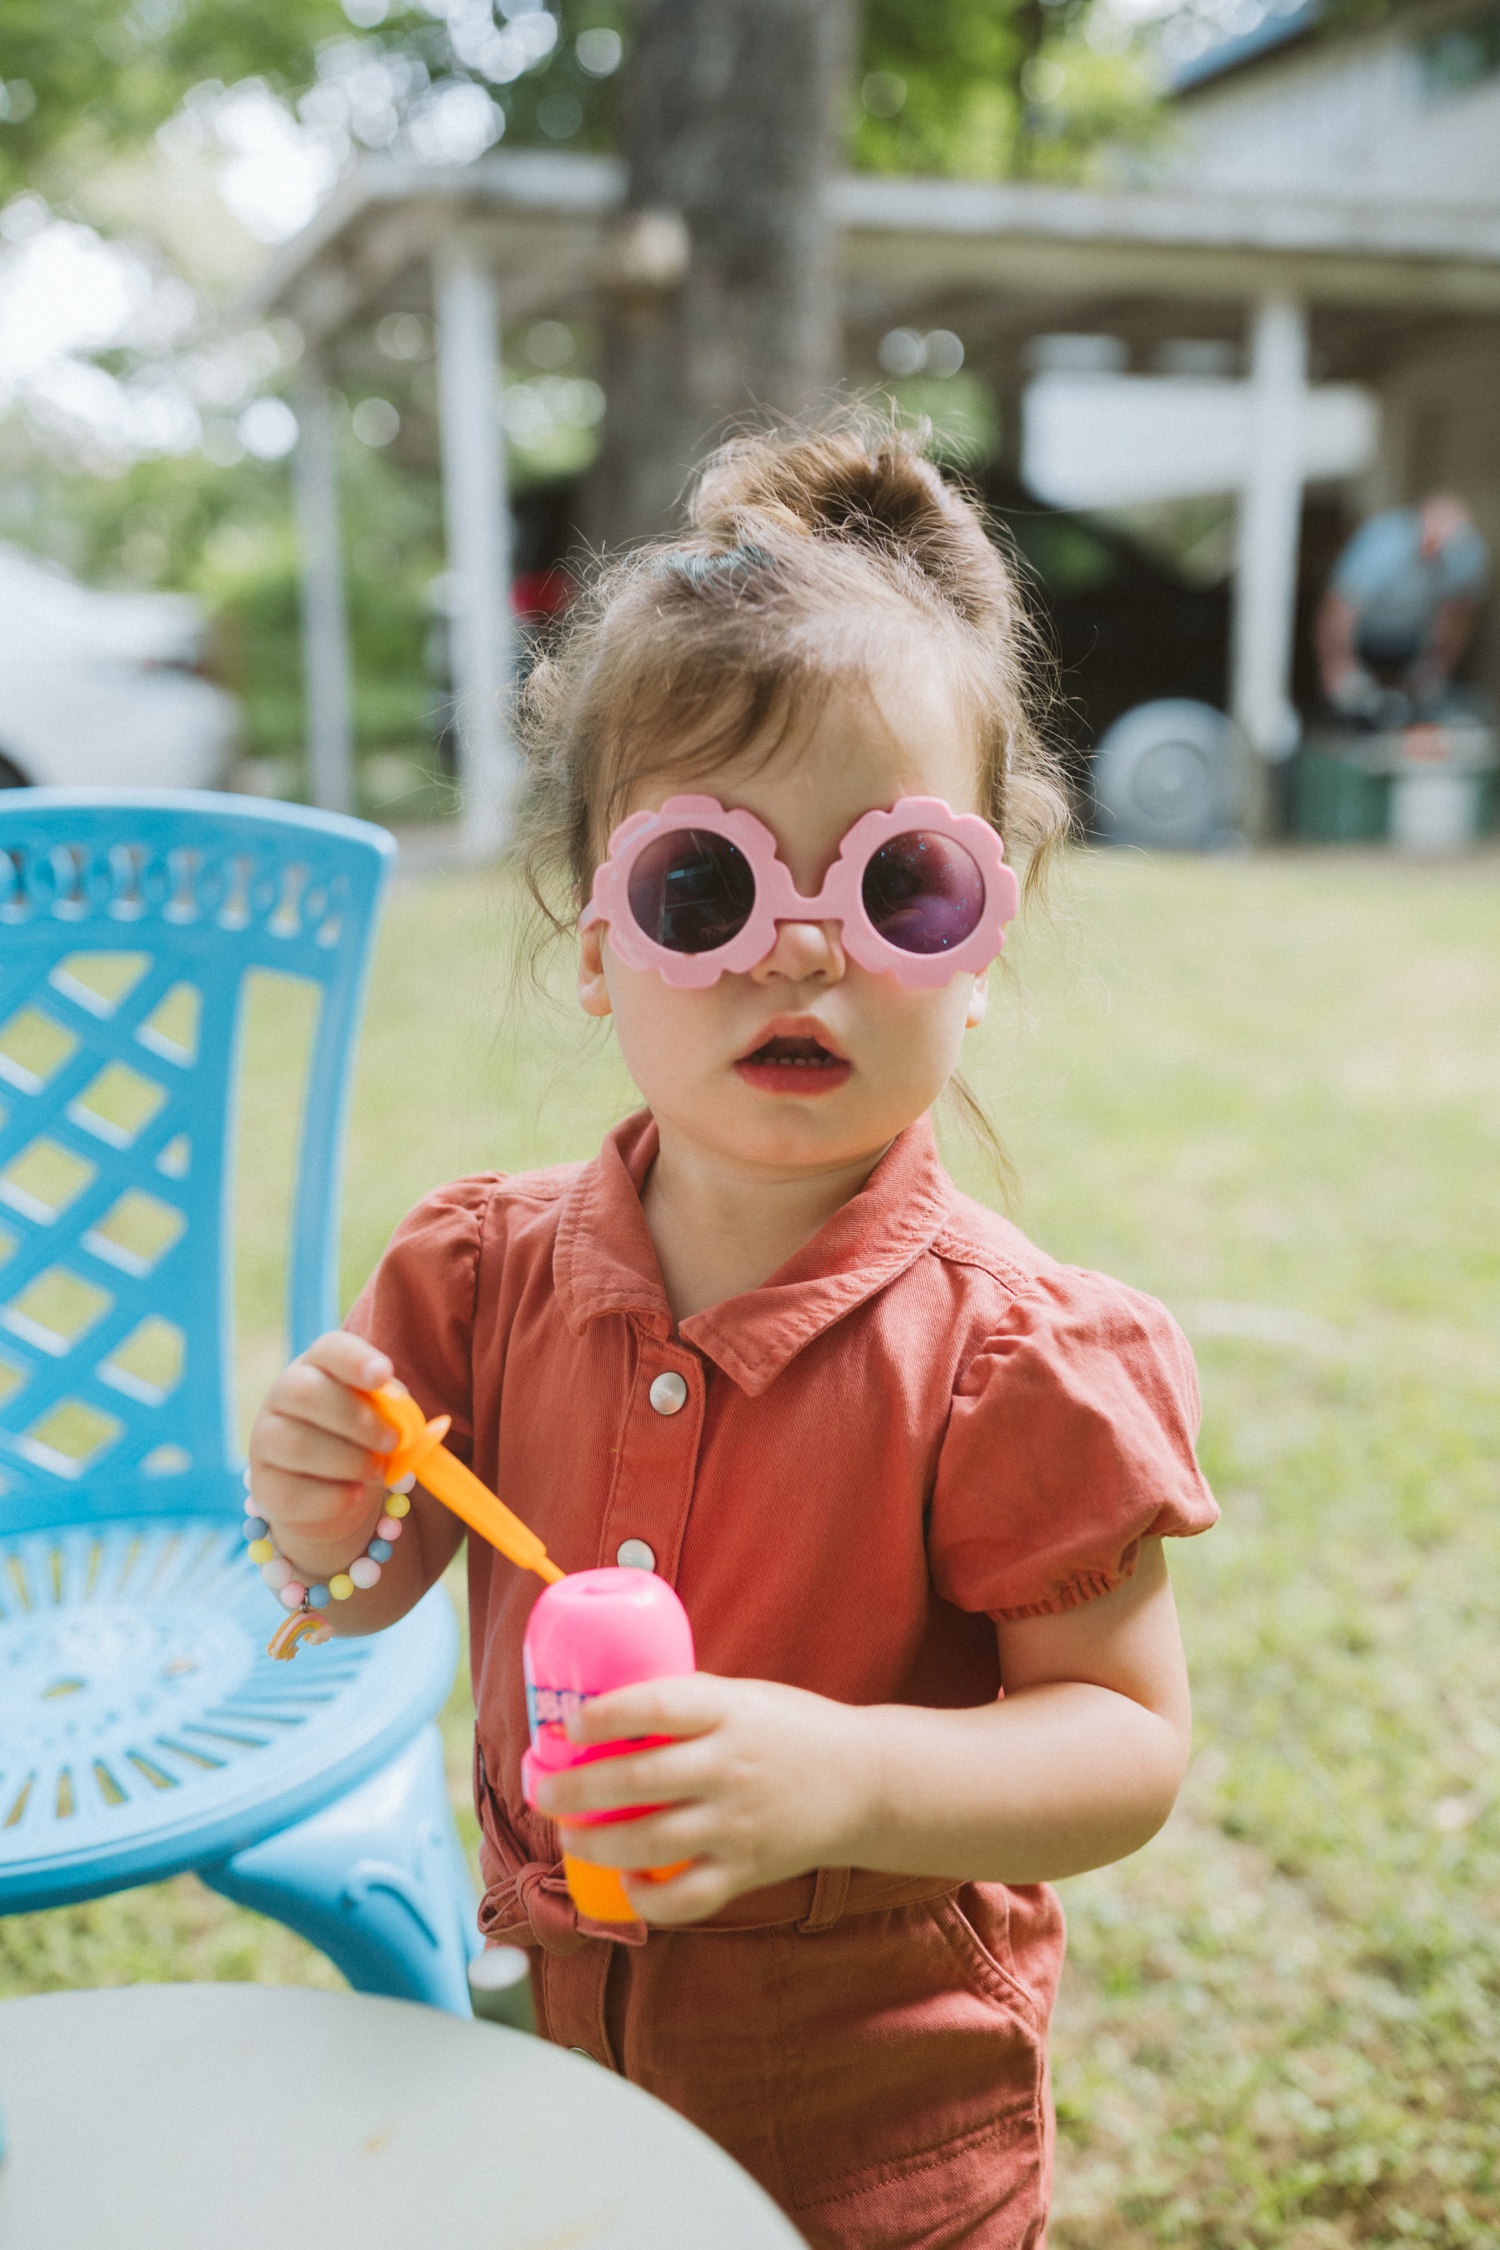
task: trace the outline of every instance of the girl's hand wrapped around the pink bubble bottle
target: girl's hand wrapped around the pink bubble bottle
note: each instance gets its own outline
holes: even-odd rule
[[[573,1742],[672,1735],[654,1750],[625,1750],[546,1775],[537,1809],[569,1814],[659,1804],[643,1820],[571,1829],[567,1845],[600,1868],[670,1868],[666,1883],[625,1874],[643,1922],[702,1922],[744,1890],[810,1868],[848,1863],[861,1829],[870,1768],[868,1714],[776,1681],[643,1681],[585,1703]]]

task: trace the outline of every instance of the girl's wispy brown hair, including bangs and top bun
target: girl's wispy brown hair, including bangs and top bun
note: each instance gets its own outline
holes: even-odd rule
[[[1068,828],[1039,731],[1048,664],[978,508],[922,434],[866,421],[740,436],[704,466],[690,531],[598,567],[526,682],[522,846],[555,927],[582,909],[634,783],[771,756],[834,682],[893,646],[949,673],[981,810],[1037,882]]]

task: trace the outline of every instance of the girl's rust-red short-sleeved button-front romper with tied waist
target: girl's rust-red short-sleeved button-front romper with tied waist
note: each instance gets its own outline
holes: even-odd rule
[[[677,1334],[639,1202],[654,1150],[636,1114],[594,1163],[439,1188],[349,1325],[562,1568],[645,1541],[706,1672],[987,1703],[996,1618],[1086,1602],[1142,1537],[1214,1521],[1169,1316],[963,1197],[927,1120]],[[652,1404],[668,1370],[681,1406]],[[479,1541],[468,1573],[481,1926],[535,1948],[546,2036],[693,2117],[816,2246],[1039,2246],[1052,1892],[823,1868],[690,1930],[580,1922],[519,1784],[537,1582]]]

